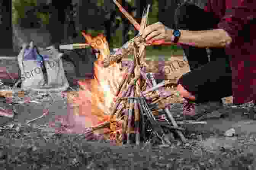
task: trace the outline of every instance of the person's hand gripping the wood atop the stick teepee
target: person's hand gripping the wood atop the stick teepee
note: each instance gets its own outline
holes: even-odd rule
[[[168,40],[168,28],[165,27],[162,22],[157,22],[146,27],[142,33],[142,37],[146,38],[146,41],[148,42],[156,40]]]

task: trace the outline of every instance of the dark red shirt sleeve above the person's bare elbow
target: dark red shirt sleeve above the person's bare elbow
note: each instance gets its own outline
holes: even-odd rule
[[[238,37],[239,31],[243,30],[245,25],[256,18],[256,1],[243,0],[240,6],[231,6],[226,9],[224,17],[218,24],[218,28],[225,30],[232,38],[232,41]]]

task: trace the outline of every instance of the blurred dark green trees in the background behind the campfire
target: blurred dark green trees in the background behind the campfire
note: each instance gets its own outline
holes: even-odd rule
[[[173,28],[171,16],[185,0],[118,1],[138,22],[141,20],[143,8],[150,3],[152,7],[149,24],[160,21]],[[207,2],[190,1],[201,8]],[[12,3],[13,24],[21,28],[49,31],[52,44],[84,41],[80,31],[86,30],[91,34],[105,33],[110,47],[114,48],[121,46],[137,33],[112,0],[12,0]]]

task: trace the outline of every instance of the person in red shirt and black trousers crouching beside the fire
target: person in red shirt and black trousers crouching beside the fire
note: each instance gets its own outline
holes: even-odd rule
[[[182,46],[190,72],[178,80],[185,119],[222,108],[233,96],[235,107],[256,100],[256,1],[208,0],[205,9],[185,2],[176,9],[174,28],[161,22],[146,27],[148,43],[165,40]],[[211,50],[210,62],[206,48]],[[208,109],[207,109],[208,108]]]

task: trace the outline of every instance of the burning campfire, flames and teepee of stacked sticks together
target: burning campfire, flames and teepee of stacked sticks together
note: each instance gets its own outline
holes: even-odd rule
[[[93,79],[80,80],[80,91],[70,93],[68,98],[75,108],[74,114],[85,116],[88,128],[85,138],[105,138],[115,143],[137,145],[155,139],[157,143],[170,144],[170,136],[176,134],[186,142],[185,129],[178,125],[200,122],[174,120],[170,110],[173,102],[163,102],[175,95],[174,91],[168,90],[174,85],[173,80],[157,83],[157,74],[148,72],[144,61],[147,45],[141,34],[147,25],[150,5],[144,9],[139,25],[117,1],[114,2],[139,34],[110,54],[102,34],[91,37],[82,33],[96,51],[98,60],[94,62]],[[132,61],[128,66],[122,66],[122,58],[128,54],[133,54]],[[78,94],[76,97],[75,93]]]

